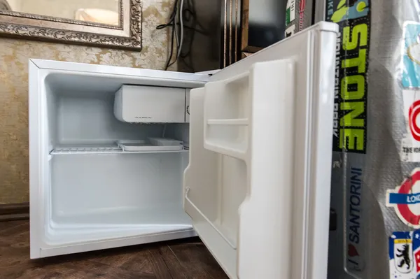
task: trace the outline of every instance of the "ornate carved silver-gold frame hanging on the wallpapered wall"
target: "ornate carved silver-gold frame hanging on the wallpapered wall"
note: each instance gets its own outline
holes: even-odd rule
[[[0,10],[0,35],[140,51],[141,0],[119,0],[118,3],[118,25]]]

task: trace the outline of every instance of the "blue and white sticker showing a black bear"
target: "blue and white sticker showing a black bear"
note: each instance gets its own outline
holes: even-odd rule
[[[389,237],[389,278],[420,278],[420,230],[395,231]]]

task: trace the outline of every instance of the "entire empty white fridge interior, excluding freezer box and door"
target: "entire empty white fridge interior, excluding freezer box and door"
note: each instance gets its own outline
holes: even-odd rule
[[[74,73],[45,78],[48,245],[192,229],[183,210],[188,123],[118,120],[114,99],[123,82]],[[184,100],[185,92],[184,88]],[[186,147],[130,152],[117,144],[151,137],[176,139]]]

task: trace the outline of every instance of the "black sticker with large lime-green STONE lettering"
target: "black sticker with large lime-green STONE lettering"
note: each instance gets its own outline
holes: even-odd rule
[[[366,152],[370,8],[369,0],[326,2],[326,20],[339,25],[333,151]]]

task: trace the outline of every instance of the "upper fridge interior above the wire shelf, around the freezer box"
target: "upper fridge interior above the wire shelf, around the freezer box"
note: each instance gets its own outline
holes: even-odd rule
[[[168,134],[170,129],[180,125],[187,125],[181,129],[188,129],[188,124],[119,121],[114,115],[115,88],[121,86],[118,83],[104,87],[104,80],[97,78],[96,83],[85,81],[83,86],[80,82],[69,83],[66,78],[69,76],[57,74],[45,78],[49,151],[63,146],[116,145],[117,141],[147,141],[148,138],[172,138],[188,142],[188,133],[184,138],[174,138]],[[166,87],[162,88],[165,90]],[[185,92],[185,89],[179,90]],[[170,88],[167,94],[172,94]],[[155,104],[144,99],[144,106],[148,106],[148,103]]]

